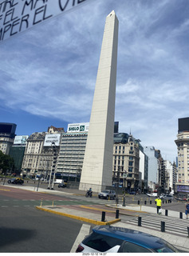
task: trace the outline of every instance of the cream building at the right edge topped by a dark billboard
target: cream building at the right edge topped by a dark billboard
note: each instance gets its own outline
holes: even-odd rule
[[[177,192],[189,193],[189,118],[179,118],[175,144],[178,150]]]

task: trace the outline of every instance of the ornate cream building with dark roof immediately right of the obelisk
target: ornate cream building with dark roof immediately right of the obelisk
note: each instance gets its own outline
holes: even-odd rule
[[[126,190],[137,190],[139,186],[139,141],[130,134],[114,134],[113,182],[119,179]]]

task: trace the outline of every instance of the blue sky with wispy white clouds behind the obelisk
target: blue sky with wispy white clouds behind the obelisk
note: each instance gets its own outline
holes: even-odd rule
[[[119,131],[173,162],[178,118],[189,116],[188,0],[87,0],[0,42],[0,122],[16,123],[17,135],[89,122],[112,10]]]

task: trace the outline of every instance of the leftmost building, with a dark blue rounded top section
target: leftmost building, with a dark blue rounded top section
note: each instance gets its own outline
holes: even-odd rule
[[[0,122],[0,150],[3,154],[9,154],[10,147],[14,144],[16,128],[15,123]]]

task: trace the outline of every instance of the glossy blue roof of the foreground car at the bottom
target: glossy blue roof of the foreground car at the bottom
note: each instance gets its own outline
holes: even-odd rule
[[[130,230],[118,226],[95,226],[93,232],[97,234],[104,234],[114,238],[120,238],[128,242],[134,242],[146,248],[161,248],[166,243],[161,238],[146,234],[137,230]]]

